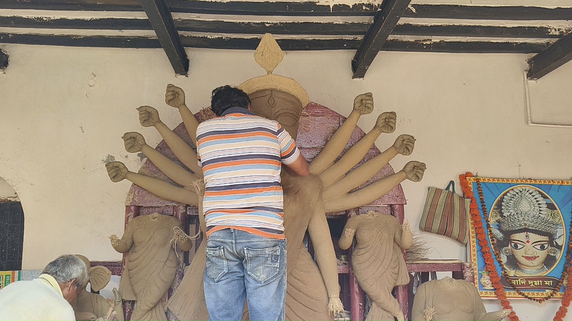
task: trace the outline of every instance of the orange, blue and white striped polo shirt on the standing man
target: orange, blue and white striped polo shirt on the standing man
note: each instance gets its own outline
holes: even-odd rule
[[[207,237],[236,228],[284,239],[281,164],[295,162],[300,151],[278,122],[232,107],[198,125],[197,155]]]

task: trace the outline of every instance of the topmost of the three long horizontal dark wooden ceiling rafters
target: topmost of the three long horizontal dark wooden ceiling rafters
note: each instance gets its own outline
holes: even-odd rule
[[[356,3],[319,5],[316,2],[167,0],[171,12],[231,15],[375,15],[379,5]],[[0,0],[0,9],[142,11],[138,0]],[[534,6],[411,5],[408,18],[570,20],[572,8]]]

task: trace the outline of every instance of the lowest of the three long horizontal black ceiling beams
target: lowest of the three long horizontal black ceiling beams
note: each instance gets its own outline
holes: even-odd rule
[[[284,50],[356,50],[360,39],[276,39]],[[182,35],[185,47],[210,49],[254,50],[260,38],[201,37]],[[26,45],[49,45],[68,47],[111,47],[111,48],[161,48],[156,38],[126,36],[85,36],[53,34],[9,34],[0,33],[0,43]],[[451,42],[451,41],[403,41],[389,39],[382,51],[411,51],[434,53],[539,53],[549,43],[527,42]]]

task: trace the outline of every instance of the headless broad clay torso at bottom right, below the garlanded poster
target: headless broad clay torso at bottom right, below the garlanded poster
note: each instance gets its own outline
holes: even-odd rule
[[[501,321],[511,312],[487,313],[474,284],[447,276],[417,288],[411,318],[412,321]]]

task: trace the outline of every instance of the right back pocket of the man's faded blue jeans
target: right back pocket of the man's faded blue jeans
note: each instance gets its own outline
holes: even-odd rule
[[[247,272],[260,283],[278,275],[280,270],[280,246],[269,248],[244,248],[247,259]]]

